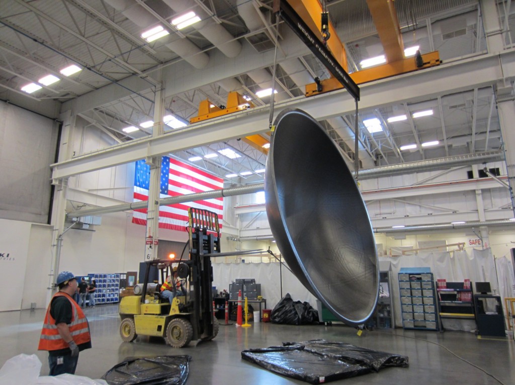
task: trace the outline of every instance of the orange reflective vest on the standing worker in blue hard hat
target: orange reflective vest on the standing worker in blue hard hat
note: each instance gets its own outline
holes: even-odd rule
[[[72,297],[68,296],[66,293],[62,291],[58,291],[52,300],[55,297],[66,297],[70,303],[72,304],[72,322],[68,325],[70,328],[70,333],[72,335],[73,340],[77,345],[82,343],[90,342],[90,327],[88,324],[88,320],[80,306],[75,302]],[[39,340],[38,350],[60,350],[66,349],[69,347],[68,344],[62,339],[61,335],[57,331],[56,320],[50,315],[50,305],[52,305],[52,301],[48,305],[46,309],[45,321],[43,322],[43,329],[41,331],[41,337]]]

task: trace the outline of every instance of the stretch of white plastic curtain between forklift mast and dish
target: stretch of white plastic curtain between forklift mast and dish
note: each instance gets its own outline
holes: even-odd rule
[[[254,278],[261,284],[261,295],[266,307],[273,309],[281,300],[281,274],[279,263],[214,263],[213,286],[218,292],[235,283],[237,278]],[[300,283],[294,274],[282,267],[282,295],[289,293],[294,301],[308,302],[315,309],[316,298]]]

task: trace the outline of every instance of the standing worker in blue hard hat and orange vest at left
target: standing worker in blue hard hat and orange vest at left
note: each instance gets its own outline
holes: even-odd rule
[[[70,271],[57,276],[59,291],[46,309],[38,350],[48,351],[50,376],[75,374],[79,352],[91,347],[88,320],[72,296],[77,280]]]

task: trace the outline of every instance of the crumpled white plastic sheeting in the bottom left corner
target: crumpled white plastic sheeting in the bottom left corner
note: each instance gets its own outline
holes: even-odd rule
[[[8,359],[0,369],[0,385],[107,385],[104,380],[61,374],[59,376],[39,376],[41,361],[35,354],[20,354]]]

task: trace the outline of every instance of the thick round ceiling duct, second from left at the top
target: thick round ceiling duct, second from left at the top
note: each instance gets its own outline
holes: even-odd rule
[[[212,15],[205,12],[201,7],[192,7],[190,0],[163,0],[168,7],[176,13],[188,10],[195,10],[197,16],[202,20],[195,23],[192,27],[200,32],[204,38],[209,40],[216,48],[222,51],[228,58],[238,56],[242,50],[242,44],[234,39],[227,29],[216,23]]]

